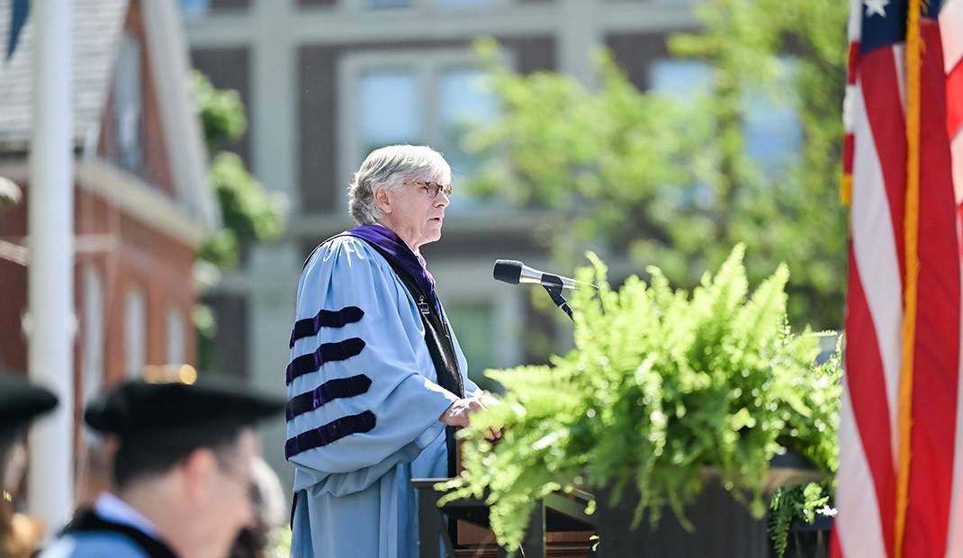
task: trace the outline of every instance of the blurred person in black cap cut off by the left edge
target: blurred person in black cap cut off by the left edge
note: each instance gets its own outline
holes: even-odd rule
[[[18,438],[34,417],[57,407],[50,390],[0,373],[0,558],[27,558],[35,551],[42,526],[14,513],[13,498],[23,470]]]

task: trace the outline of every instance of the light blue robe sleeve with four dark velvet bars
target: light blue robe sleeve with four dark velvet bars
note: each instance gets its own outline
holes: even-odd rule
[[[288,367],[286,455],[296,490],[364,490],[442,434],[438,418],[457,396],[436,382],[414,300],[367,243],[339,237],[311,257],[296,315],[322,323],[294,341]]]

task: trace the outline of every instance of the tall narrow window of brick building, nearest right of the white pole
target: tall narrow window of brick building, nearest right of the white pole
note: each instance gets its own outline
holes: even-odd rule
[[[81,398],[86,403],[104,381],[104,281],[92,265],[84,269]]]

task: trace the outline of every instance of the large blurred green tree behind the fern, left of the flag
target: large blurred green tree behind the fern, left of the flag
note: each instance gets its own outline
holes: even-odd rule
[[[639,92],[606,52],[591,90],[560,73],[520,75],[497,63],[494,41],[481,40],[502,113],[466,146],[507,157],[490,157],[472,187],[562,212],[551,237],[566,264],[590,247],[634,268],[656,265],[691,288],[743,243],[752,281],[788,263],[794,324],[838,329],[846,277],[846,208],[838,200],[846,7],[836,0],[700,4],[701,30],[668,41],[674,57],[712,68],[708,93],[694,99]],[[788,103],[801,122],[800,152],[781,168],[746,153],[744,122],[760,94]]]

